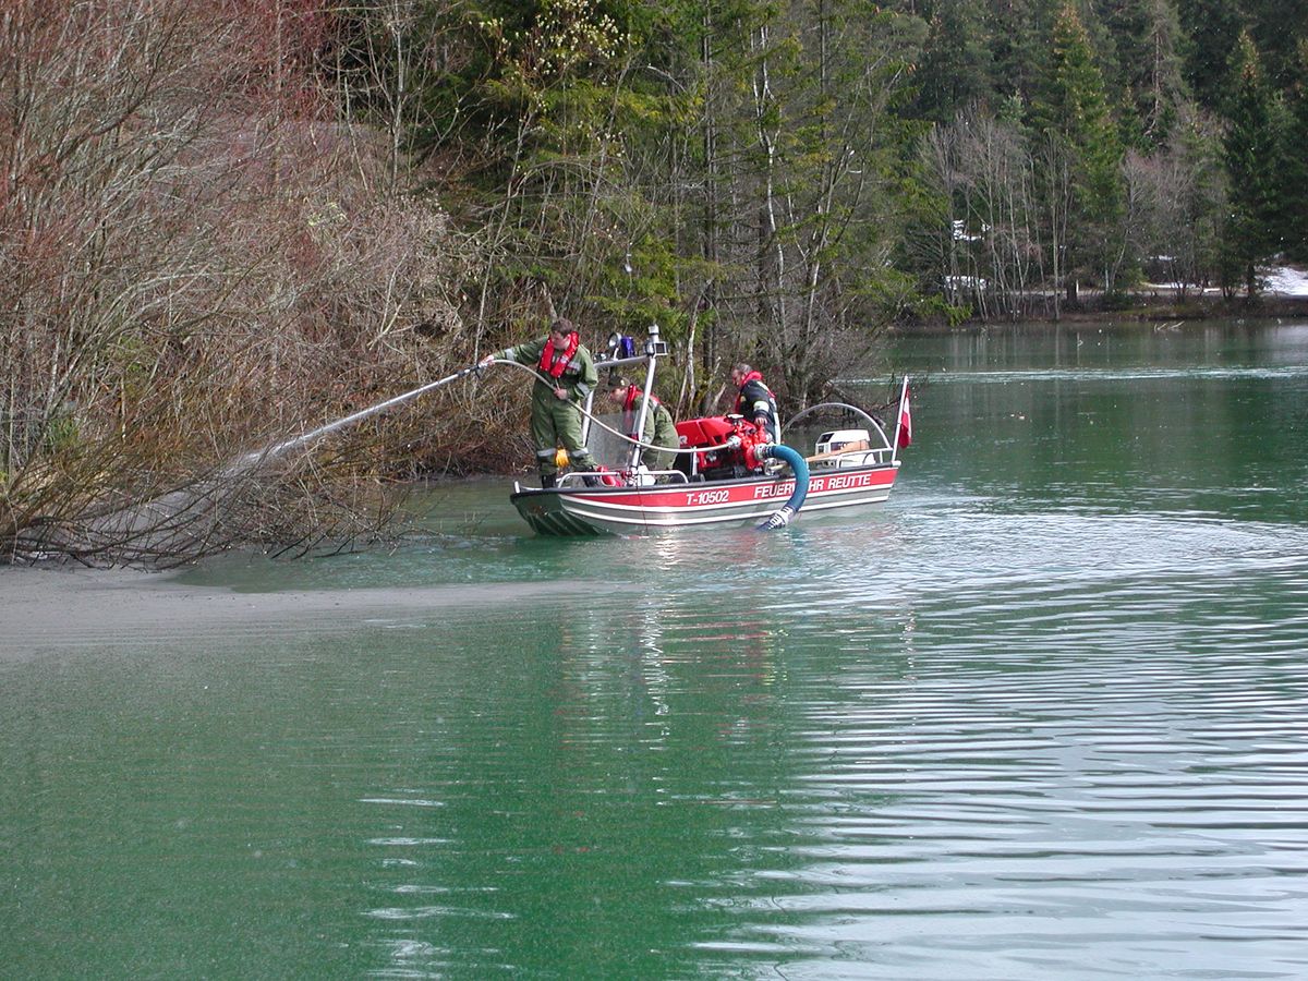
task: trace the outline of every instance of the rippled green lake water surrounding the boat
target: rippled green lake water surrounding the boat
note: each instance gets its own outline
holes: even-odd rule
[[[442,485],[194,621],[0,629],[0,977],[1308,977],[1308,324],[892,358],[862,514]]]

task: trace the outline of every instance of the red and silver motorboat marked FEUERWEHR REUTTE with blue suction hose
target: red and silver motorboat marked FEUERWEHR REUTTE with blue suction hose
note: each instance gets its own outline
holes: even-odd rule
[[[645,365],[645,391],[653,390],[654,366],[667,347],[658,326],[649,328],[641,353],[629,339],[610,339],[596,358],[602,371]],[[585,404],[585,436],[595,421],[594,394]],[[644,400],[636,433],[644,430]],[[900,395],[892,441],[882,424],[855,405],[823,403],[794,416],[787,428],[820,409],[836,409],[863,425],[835,429],[818,437],[812,455],[804,456],[766,434],[742,416],[705,416],[676,424],[680,447],[674,470],[649,471],[638,466],[641,445],[620,434],[630,446],[628,463],[600,472],[568,472],[552,488],[514,484],[510,502],[539,535],[640,535],[667,528],[732,527],[755,525],[778,528],[804,514],[852,510],[884,502],[899,473],[899,449],[908,445],[908,379]]]

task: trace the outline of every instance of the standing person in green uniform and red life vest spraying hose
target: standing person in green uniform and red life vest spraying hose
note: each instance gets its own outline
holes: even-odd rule
[[[487,354],[479,364],[485,366],[492,361],[535,365],[531,439],[536,445],[540,485],[555,487],[557,483],[560,446],[568,450],[573,470],[594,471],[595,460],[581,441],[581,404],[599,383],[599,374],[573,322],[560,318],[549,324],[549,334],[544,337]],[[590,480],[593,477],[587,477]]]

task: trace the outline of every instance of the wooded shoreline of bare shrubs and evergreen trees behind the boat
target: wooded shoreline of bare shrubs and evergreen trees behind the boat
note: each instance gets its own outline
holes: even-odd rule
[[[521,378],[232,460],[555,314],[794,411],[891,326],[1308,260],[1303,0],[12,0],[0,48],[10,560],[378,534],[530,459]]]

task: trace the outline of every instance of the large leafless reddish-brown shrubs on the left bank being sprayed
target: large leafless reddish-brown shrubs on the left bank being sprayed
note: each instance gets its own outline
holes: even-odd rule
[[[387,148],[332,122],[306,69],[317,7],[0,12],[9,559],[158,564],[374,535],[394,460],[450,436],[436,399],[313,466],[226,467],[470,347],[443,285],[466,260],[438,211],[377,192]]]

